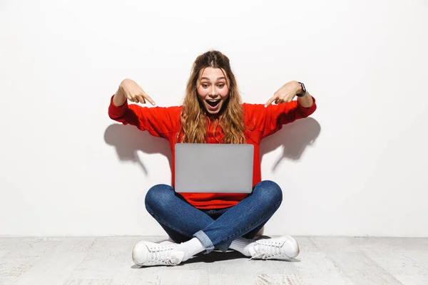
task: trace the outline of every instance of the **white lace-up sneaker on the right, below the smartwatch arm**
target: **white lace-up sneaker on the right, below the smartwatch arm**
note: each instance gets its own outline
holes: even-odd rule
[[[300,253],[299,245],[293,237],[259,239],[249,249],[250,259],[292,259]]]

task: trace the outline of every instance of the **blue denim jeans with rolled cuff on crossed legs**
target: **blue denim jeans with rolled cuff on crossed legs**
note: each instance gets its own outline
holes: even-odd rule
[[[282,190],[272,181],[255,185],[253,192],[233,207],[196,209],[169,185],[148,190],[146,209],[174,242],[196,237],[206,249],[228,250],[238,237],[253,239],[282,202]]]

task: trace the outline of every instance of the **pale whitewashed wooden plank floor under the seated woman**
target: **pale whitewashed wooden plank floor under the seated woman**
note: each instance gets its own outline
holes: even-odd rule
[[[141,239],[165,240],[0,238],[0,284],[428,284],[428,239],[296,237],[301,251],[292,261],[213,252],[179,266],[138,268],[131,249]]]

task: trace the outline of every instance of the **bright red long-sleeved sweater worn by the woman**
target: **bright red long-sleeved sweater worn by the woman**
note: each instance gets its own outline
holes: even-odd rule
[[[312,97],[313,98],[313,97]],[[260,174],[260,140],[276,133],[282,128],[282,125],[291,123],[297,119],[306,118],[315,112],[317,105],[314,103],[310,108],[300,105],[297,100],[290,103],[279,105],[269,105],[265,108],[261,104],[243,103],[244,124],[246,127],[245,138],[247,143],[254,145],[254,166],[253,166],[253,186],[261,181]],[[174,145],[176,134],[180,131],[180,112],[181,106],[175,107],[141,107],[140,105],[126,102],[124,105],[117,107],[113,104],[111,98],[108,107],[108,115],[111,119],[116,120],[123,125],[135,125],[140,130],[147,130],[148,133],[156,137],[165,138],[170,143],[173,152],[172,163],[172,186],[174,187],[174,165],[175,153]],[[221,128],[216,128],[213,133],[213,124],[208,131],[207,143],[218,143],[223,140]],[[238,204],[247,194],[231,193],[180,193],[183,197],[198,209],[220,209],[231,207]]]

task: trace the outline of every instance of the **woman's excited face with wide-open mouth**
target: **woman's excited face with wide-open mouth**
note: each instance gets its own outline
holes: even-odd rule
[[[203,69],[198,82],[198,98],[211,115],[218,114],[229,97],[226,78],[220,68]]]

